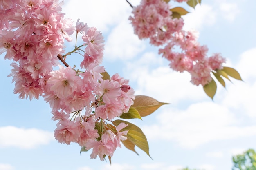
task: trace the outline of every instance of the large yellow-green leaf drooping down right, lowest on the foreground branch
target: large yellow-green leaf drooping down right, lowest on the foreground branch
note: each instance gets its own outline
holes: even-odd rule
[[[126,135],[127,140],[129,140],[132,144],[136,145],[138,148],[140,148],[141,150],[146,152],[146,154],[150,157],[148,141],[147,141],[146,136],[142,132],[142,130],[138,126],[131,124],[130,122],[123,121],[123,120],[115,120],[115,121],[113,121],[113,125],[118,126],[122,122],[124,122],[125,124],[128,124],[128,126],[126,126],[125,128],[123,128],[121,130],[121,131],[128,130],[128,133]],[[130,146],[130,148],[132,148],[132,146]],[[130,148],[128,148],[128,149],[130,149]]]

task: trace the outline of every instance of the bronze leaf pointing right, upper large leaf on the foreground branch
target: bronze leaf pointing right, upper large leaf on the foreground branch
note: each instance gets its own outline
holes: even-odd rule
[[[137,95],[134,99],[134,104],[132,107],[134,107],[141,117],[150,115],[155,110],[157,110],[160,106],[168,104],[168,103],[162,103],[158,102],[156,99],[144,95]]]

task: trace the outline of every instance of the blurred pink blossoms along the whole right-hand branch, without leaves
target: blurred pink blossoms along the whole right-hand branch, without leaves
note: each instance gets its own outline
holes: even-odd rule
[[[182,30],[183,19],[171,16],[168,3],[142,0],[139,6],[133,8],[132,14],[129,19],[135,34],[140,39],[149,38],[155,46],[165,45],[159,49],[159,54],[170,61],[173,70],[188,71],[192,84],[204,86],[211,82],[211,71],[222,69],[225,58],[218,53],[207,57],[207,46],[198,43],[193,31]]]

